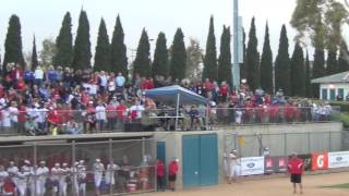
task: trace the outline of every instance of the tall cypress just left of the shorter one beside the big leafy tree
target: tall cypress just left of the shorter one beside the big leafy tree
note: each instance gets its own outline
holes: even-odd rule
[[[286,95],[290,95],[291,64],[288,53],[288,38],[286,26],[282,25],[280,33],[279,49],[275,60],[275,90],[282,89]]]

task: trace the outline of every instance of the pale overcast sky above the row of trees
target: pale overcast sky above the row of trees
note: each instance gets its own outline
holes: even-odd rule
[[[277,54],[281,25],[286,24],[289,39],[296,32],[289,25],[296,0],[240,0],[240,15],[246,35],[251,19],[256,19],[258,50],[262,52],[265,24],[268,22],[270,45],[274,58]],[[0,52],[4,51],[4,39],[9,19],[12,14],[20,16],[22,25],[23,52],[32,50],[33,35],[36,36],[38,50],[46,38],[56,39],[63,16],[67,11],[72,15],[73,35],[76,34],[81,9],[87,12],[91,27],[92,51],[95,51],[100,19],[107,24],[109,39],[120,14],[125,34],[128,56],[132,58],[136,49],[142,29],[145,28],[151,39],[156,39],[159,32],[164,32],[168,46],[173,35],[181,27],[185,42],[195,38],[205,48],[210,15],[215,20],[215,35],[217,51],[222,25],[232,26],[232,0],[5,0],[0,7]],[[152,54],[155,40],[151,42]],[[293,42],[290,41],[290,53]]]

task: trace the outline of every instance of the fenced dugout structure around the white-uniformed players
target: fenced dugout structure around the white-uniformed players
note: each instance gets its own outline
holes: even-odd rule
[[[74,162],[84,160],[87,194],[93,194],[95,160],[100,159],[107,168],[109,160],[121,166],[123,156],[127,156],[129,173],[133,179],[132,189],[128,189],[129,184],[121,189],[120,185],[113,188],[103,185],[101,194],[152,192],[156,188],[155,144],[152,133],[0,137],[0,163],[8,167],[9,161],[14,161],[20,168],[24,160],[29,160],[32,164],[38,164],[44,160],[50,169],[55,163],[67,162],[71,167]],[[119,183],[118,173],[120,173],[119,169],[115,172],[117,184]],[[70,187],[73,192],[72,186]]]

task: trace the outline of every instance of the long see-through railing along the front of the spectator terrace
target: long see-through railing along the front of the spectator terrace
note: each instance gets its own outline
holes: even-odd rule
[[[11,111],[3,109],[1,135],[91,134],[132,131],[193,131],[237,124],[276,124],[328,122],[338,117],[338,108],[282,107],[261,108],[181,108],[158,110],[46,110]],[[177,117],[178,114],[178,117]]]

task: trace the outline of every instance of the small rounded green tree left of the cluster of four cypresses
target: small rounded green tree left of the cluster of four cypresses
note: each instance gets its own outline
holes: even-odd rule
[[[47,38],[43,40],[43,49],[40,51],[40,60],[44,66],[49,66],[52,64],[52,59],[57,52],[56,44],[52,38]]]

